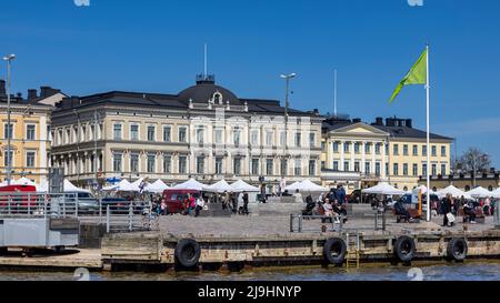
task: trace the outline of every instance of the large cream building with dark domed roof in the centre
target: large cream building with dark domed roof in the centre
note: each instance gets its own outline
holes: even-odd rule
[[[53,112],[51,160],[86,188],[113,176],[256,185],[264,176],[270,190],[283,178],[319,183],[323,118],[293,109],[283,115],[279,101],[238,98],[213,75],[178,94],[73,97]]]

